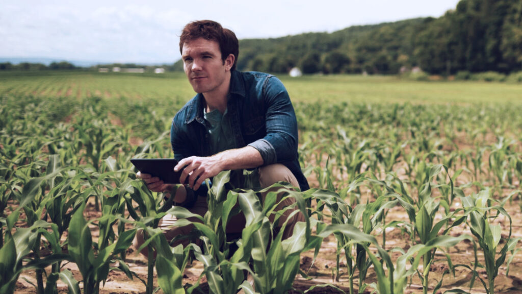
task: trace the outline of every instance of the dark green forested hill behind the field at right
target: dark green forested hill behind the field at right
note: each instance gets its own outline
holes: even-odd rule
[[[395,74],[522,69],[522,0],[461,0],[440,18],[240,40],[239,70]]]

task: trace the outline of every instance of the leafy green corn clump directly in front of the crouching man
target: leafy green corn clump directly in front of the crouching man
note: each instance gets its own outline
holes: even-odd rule
[[[311,236],[310,222],[306,221],[295,224],[293,235],[287,240],[282,240],[287,224],[284,223],[279,228],[279,232],[274,235],[273,224],[268,220],[268,216],[275,213],[273,223],[278,223],[283,211],[275,212],[274,209],[279,201],[293,197],[299,208],[293,213],[301,211],[305,219],[308,219],[305,197],[300,192],[290,190],[289,187],[276,184],[258,191],[258,193],[266,193],[262,205],[254,190],[234,189],[227,193],[225,184],[229,179],[230,172],[222,172],[214,177],[208,196],[209,209],[204,218],[187,213],[175,214],[176,217],[192,216],[199,221],[189,222],[179,218],[174,225],[192,223],[200,234],[202,248],[194,250],[194,253],[196,259],[205,267],[204,274],[207,276],[212,292],[228,293],[241,288],[245,291],[253,291],[251,285],[245,282],[245,272],[250,273],[254,278],[256,292],[286,292],[291,288],[298,273],[301,252],[318,247],[322,239]],[[285,196],[277,201],[278,195],[283,193]],[[178,213],[179,211],[181,210],[178,209]],[[168,211],[171,212],[175,213],[175,210]],[[246,219],[241,238],[227,240],[225,228],[230,217],[240,212]],[[236,245],[234,251],[232,251],[232,243]],[[194,286],[188,290],[192,291],[192,289]]]

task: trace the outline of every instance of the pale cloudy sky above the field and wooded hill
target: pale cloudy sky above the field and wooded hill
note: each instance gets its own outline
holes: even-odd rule
[[[441,17],[458,0],[0,0],[0,58],[163,64],[180,59],[187,22],[211,19],[239,39],[333,32]],[[240,48],[241,50],[241,48]]]

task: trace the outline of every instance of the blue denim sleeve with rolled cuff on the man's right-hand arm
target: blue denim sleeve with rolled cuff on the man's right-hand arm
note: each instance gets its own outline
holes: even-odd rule
[[[263,157],[263,165],[292,161],[298,157],[298,128],[286,88],[275,76],[263,84],[266,135],[249,146]]]

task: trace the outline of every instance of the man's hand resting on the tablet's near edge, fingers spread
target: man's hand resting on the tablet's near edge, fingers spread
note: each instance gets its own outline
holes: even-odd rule
[[[174,167],[174,172],[178,172],[185,167],[181,172],[180,183],[185,183],[188,177],[188,186],[193,190],[197,190],[207,178],[211,178],[223,171],[222,162],[218,158],[220,156],[217,155],[210,157],[191,156],[182,159]]]

